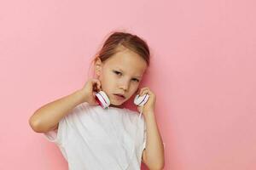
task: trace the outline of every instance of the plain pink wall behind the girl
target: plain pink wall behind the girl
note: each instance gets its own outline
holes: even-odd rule
[[[103,38],[121,30],[152,49],[143,83],[157,96],[165,169],[255,170],[255,7],[253,0],[1,1],[0,169],[67,169],[28,119],[82,88]]]

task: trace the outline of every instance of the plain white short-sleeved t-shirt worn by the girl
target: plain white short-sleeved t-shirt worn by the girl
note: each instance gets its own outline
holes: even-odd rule
[[[44,136],[58,145],[69,170],[138,170],[146,123],[137,111],[84,102]]]

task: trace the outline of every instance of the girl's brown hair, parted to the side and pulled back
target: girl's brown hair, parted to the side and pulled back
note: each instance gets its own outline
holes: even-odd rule
[[[110,35],[103,43],[102,48],[96,53],[92,63],[95,64],[96,59],[100,58],[102,62],[110,58],[113,54],[118,53],[117,48],[122,45],[125,48],[130,49],[136,54],[139,54],[145,61],[147,65],[150,64],[150,52],[147,42],[137,35],[125,32],[125,31],[112,31]]]

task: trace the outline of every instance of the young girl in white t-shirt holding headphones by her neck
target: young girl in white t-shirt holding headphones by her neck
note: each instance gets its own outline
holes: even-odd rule
[[[142,38],[113,32],[96,54],[94,74],[84,87],[40,107],[31,116],[32,129],[57,144],[70,170],[137,170],[164,167],[164,147],[154,116],[155,95],[138,88],[149,65],[149,49]],[[96,92],[108,95],[103,109]],[[148,94],[142,112],[124,107],[134,94]],[[147,130],[146,130],[147,129]]]

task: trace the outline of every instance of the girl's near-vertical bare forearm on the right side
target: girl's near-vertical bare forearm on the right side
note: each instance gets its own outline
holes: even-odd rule
[[[160,132],[155,120],[154,112],[145,114],[145,122],[147,127],[147,143],[146,143],[146,159],[148,168],[158,169],[164,167],[164,146],[160,136]]]

